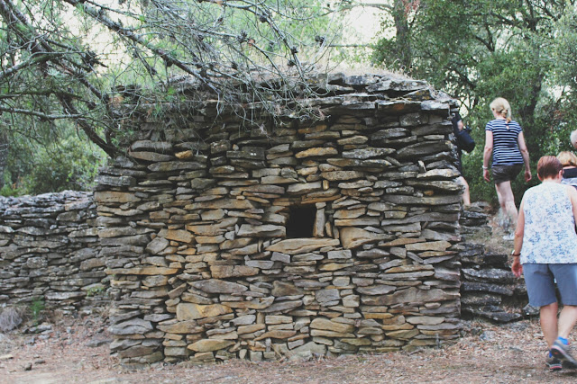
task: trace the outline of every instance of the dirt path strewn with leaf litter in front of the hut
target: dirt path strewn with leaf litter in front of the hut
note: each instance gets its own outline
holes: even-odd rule
[[[2,383],[359,383],[576,382],[577,371],[545,369],[545,342],[536,321],[505,326],[464,322],[464,337],[442,349],[416,353],[342,356],[309,362],[242,362],[189,366],[158,364],[127,371],[108,353],[97,319],[53,326],[45,340],[0,336]],[[6,354],[12,356],[9,359]],[[30,371],[24,371],[32,363]]]

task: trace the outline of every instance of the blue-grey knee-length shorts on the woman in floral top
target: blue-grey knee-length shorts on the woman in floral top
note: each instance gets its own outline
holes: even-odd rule
[[[523,274],[529,304],[533,307],[543,307],[557,302],[555,282],[563,305],[577,306],[577,263],[527,263],[523,264]]]

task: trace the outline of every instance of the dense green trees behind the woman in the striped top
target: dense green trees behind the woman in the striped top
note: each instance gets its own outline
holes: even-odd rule
[[[409,33],[385,31],[372,59],[397,65],[389,55],[405,39],[411,54],[410,75],[462,103],[477,147],[463,156],[463,173],[473,200],[496,201],[492,183],[482,180],[484,127],[492,119],[489,103],[505,97],[513,119],[524,129],[534,180],[522,175],[513,183],[517,202],[538,183],[535,166],[541,156],[571,149],[569,134],[577,128],[573,112],[577,90],[577,15],[573,2],[528,0],[421,0],[405,14]]]

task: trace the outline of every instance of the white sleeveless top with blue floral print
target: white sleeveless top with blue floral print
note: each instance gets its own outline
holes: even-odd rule
[[[521,263],[577,263],[577,234],[567,186],[545,182],[525,192]]]

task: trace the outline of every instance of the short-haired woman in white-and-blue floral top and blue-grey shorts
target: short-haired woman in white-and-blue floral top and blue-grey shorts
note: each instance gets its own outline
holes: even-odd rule
[[[561,183],[563,165],[554,156],[539,159],[537,177],[542,183],[525,192],[519,207],[511,271],[525,275],[529,304],[540,308],[549,369],[577,368],[568,349],[577,322],[577,190]],[[558,320],[555,285],[563,303]]]

